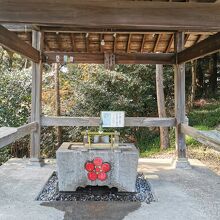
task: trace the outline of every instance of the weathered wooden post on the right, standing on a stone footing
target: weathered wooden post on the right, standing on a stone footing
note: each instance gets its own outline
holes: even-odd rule
[[[184,33],[175,34],[175,52],[184,49]],[[176,117],[176,151],[178,158],[186,158],[185,135],[180,130],[185,121],[185,63],[174,65],[175,117]]]

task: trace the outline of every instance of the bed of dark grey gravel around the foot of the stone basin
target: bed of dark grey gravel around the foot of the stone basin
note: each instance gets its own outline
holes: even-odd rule
[[[136,192],[117,192],[116,188],[87,186],[75,192],[59,192],[57,173],[54,172],[37,197],[38,201],[155,201],[151,186],[143,174],[137,175]]]

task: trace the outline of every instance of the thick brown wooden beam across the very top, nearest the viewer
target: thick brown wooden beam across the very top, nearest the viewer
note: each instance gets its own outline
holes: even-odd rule
[[[1,23],[145,30],[220,29],[220,4],[212,3],[0,0],[0,5]]]

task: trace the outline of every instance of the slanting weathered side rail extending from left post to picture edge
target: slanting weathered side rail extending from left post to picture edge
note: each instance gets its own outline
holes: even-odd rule
[[[0,148],[7,146],[8,144],[31,134],[37,130],[38,123],[31,122],[21,127],[1,127],[0,128]]]

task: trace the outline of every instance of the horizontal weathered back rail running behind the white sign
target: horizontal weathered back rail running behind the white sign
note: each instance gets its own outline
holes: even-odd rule
[[[99,117],[41,117],[42,126],[99,126]],[[173,127],[175,118],[126,117],[125,127]]]

